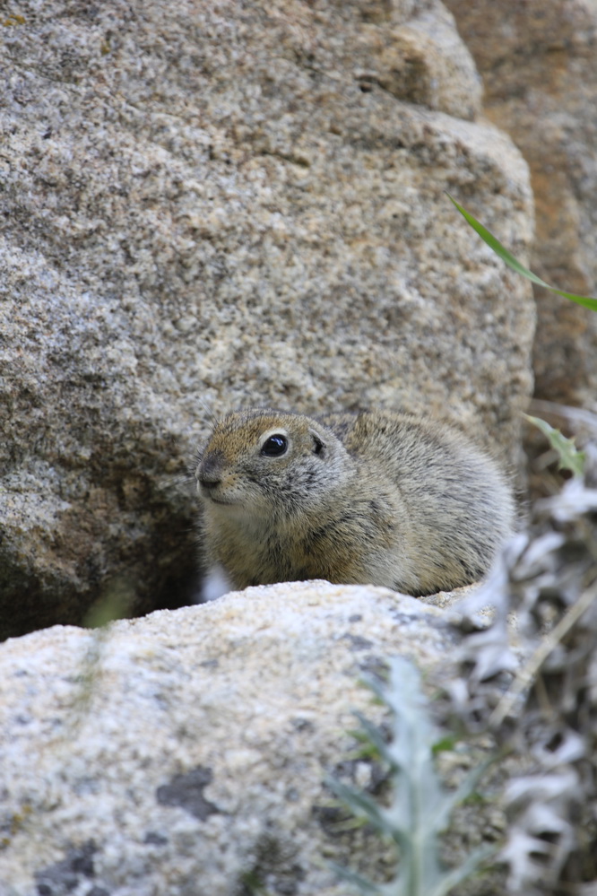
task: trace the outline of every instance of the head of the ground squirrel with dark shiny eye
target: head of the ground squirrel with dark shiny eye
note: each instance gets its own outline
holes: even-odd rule
[[[349,469],[342,442],[315,420],[250,408],[216,424],[195,478],[211,509],[287,516],[316,509]]]

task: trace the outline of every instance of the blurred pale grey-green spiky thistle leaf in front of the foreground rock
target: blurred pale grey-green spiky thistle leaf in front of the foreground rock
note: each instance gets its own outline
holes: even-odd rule
[[[396,657],[390,662],[387,685],[376,681],[368,685],[392,710],[389,743],[376,726],[356,714],[369,742],[389,768],[390,805],[378,805],[368,793],[336,779],[329,779],[328,785],[357,818],[394,841],[400,862],[394,880],[383,884],[368,881],[342,866],[334,865],[334,871],[361,896],[446,896],[494,852],[492,847],[481,847],[461,866],[446,870],[439,859],[437,842],[454,806],[471,796],[489,763],[473,770],[454,793],[446,792],[434,765],[437,732],[428,719],[417,669]]]

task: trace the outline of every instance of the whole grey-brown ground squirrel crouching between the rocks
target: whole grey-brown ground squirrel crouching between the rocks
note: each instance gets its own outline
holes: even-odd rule
[[[216,423],[198,461],[203,599],[306,578],[450,590],[487,572],[514,521],[494,461],[408,413],[251,408]]]

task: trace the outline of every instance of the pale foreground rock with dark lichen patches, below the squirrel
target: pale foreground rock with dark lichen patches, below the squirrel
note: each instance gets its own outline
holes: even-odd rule
[[[437,674],[446,613],[328,583],[7,641],[0,893],[343,896],[330,858],[379,879],[383,846],[338,829],[323,779],[350,759],[350,710],[383,712],[359,675],[396,654]]]

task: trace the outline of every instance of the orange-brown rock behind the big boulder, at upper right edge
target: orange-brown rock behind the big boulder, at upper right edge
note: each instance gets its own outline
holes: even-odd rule
[[[533,270],[597,295],[596,0],[446,0],[485,81],[486,115],[531,168]],[[537,395],[597,409],[597,315],[537,288]]]

